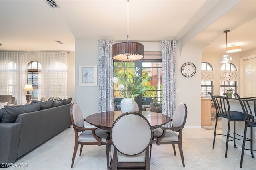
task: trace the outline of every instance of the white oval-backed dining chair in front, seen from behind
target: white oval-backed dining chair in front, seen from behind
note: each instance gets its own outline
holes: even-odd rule
[[[107,142],[111,148],[107,153],[111,159],[108,169],[150,169],[152,128],[143,115],[135,112],[120,115],[111,127]]]

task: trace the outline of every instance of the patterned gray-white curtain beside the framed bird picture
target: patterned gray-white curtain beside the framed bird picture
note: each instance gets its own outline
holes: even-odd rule
[[[114,40],[99,40],[99,112],[114,110],[112,45]]]

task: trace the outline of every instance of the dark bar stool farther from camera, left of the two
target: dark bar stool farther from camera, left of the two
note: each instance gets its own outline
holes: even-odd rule
[[[212,95],[212,93],[208,92],[208,94],[211,95],[212,101],[214,102],[215,110],[216,110],[216,121],[215,121],[215,128],[214,128],[214,138],[213,138],[213,145],[212,148],[214,149],[215,144],[215,138],[216,135],[224,135],[227,136],[226,139],[226,151],[225,151],[225,158],[228,154],[228,142],[233,141],[234,142],[234,148],[236,148],[236,135],[241,136],[239,134],[236,134],[236,122],[237,121],[244,121],[244,113],[238,112],[238,111],[230,111],[230,105],[228,101],[228,96],[226,93],[223,93],[224,96],[219,95]],[[218,123],[218,118],[226,118],[228,119],[228,132],[227,135],[225,134],[216,134],[216,127]],[[230,122],[234,123],[234,132],[230,134]],[[233,136],[230,136],[232,135]],[[229,140],[229,137],[232,138],[232,140]],[[241,136],[243,137],[243,136]],[[239,139],[242,140],[242,139]]]

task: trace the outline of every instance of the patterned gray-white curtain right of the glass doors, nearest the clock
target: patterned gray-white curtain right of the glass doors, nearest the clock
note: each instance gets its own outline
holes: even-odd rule
[[[162,41],[162,113],[171,119],[176,109],[176,40]],[[164,125],[171,127],[171,122]]]

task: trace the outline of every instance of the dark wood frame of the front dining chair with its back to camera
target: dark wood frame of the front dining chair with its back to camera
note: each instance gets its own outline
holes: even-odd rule
[[[127,113],[123,113],[122,115],[120,115],[113,123],[113,125],[115,124],[116,121],[118,121],[118,119],[120,119],[121,117],[127,115],[127,114],[134,114],[134,115],[139,115],[140,117],[142,117],[143,119],[145,119],[147,122],[148,120],[141,115],[140,113],[136,113],[136,112],[127,112]],[[112,126],[113,126],[112,125]],[[148,125],[150,125],[150,123],[148,122]],[[151,127],[151,126],[150,126]],[[111,128],[112,131],[112,128]],[[152,131],[152,128],[151,128]],[[153,132],[151,135],[151,140],[153,138]],[[109,160],[109,153],[111,151],[111,144],[112,144],[112,140],[111,140],[111,132],[110,132],[110,138],[108,138],[107,142],[107,147],[106,147],[106,152],[107,152],[107,164],[108,164],[108,170],[117,170],[117,169],[146,169],[146,170],[150,170],[150,145],[152,144],[151,142],[148,144],[148,146],[146,146],[146,148],[142,151],[145,151],[146,154],[146,160],[145,162],[117,162],[117,151],[125,154],[123,152],[121,152],[120,150],[117,150],[116,147],[114,146],[114,150],[113,150],[113,160]],[[142,153],[140,152],[140,153]],[[140,154],[138,153],[138,154]],[[126,154],[125,154],[126,155]]]

